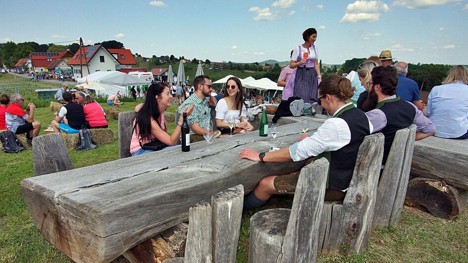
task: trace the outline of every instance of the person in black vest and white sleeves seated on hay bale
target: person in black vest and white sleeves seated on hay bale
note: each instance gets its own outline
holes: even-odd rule
[[[90,128],[85,119],[83,105],[73,102],[70,92],[63,93],[63,99],[67,104],[60,108],[59,113],[54,112],[55,120],[51,122],[54,132],[78,133],[82,127]],[[65,116],[66,119],[65,119]]]

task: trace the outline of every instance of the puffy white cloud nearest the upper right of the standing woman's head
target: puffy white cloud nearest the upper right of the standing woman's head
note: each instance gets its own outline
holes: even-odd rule
[[[341,23],[371,23],[380,18],[382,13],[388,12],[390,8],[382,1],[356,0],[346,6],[346,11],[341,18]]]

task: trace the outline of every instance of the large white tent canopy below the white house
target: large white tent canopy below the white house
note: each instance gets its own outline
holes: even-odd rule
[[[91,87],[92,82],[98,83],[99,87]],[[107,95],[115,94],[117,91],[120,91],[122,95],[127,95],[127,86],[141,86],[149,83],[149,81],[120,71],[98,71],[84,78],[78,79],[78,85],[86,84],[88,87],[83,85],[84,88],[96,90],[96,94]]]

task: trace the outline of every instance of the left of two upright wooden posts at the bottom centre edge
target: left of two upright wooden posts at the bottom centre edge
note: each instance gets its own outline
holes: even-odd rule
[[[211,217],[211,206],[206,201],[190,207],[184,263],[212,262]]]

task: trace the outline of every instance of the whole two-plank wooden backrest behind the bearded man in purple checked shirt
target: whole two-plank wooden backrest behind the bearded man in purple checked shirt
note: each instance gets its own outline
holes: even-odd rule
[[[373,225],[396,227],[406,196],[411,160],[416,137],[416,126],[395,133],[385,168],[378,181]]]

